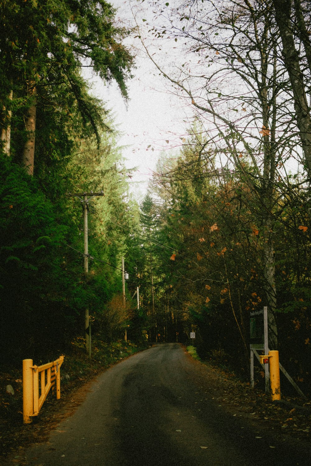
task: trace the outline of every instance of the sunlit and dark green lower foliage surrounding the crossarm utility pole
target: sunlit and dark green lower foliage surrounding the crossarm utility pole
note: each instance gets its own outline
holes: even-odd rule
[[[43,151],[40,134],[38,139]],[[94,140],[60,143],[60,157],[38,160],[32,180],[12,158],[1,155],[2,349],[10,357],[34,357],[41,353],[42,342],[44,352],[55,341],[66,349],[72,336],[83,334],[86,307],[91,319],[95,317],[95,332],[107,336],[106,328],[100,329],[104,321],[113,327],[105,304],[122,293],[120,259],[131,247],[131,206],[137,206],[128,200],[127,174],[114,135],[103,136],[100,151],[95,147]],[[90,273],[84,276],[81,202],[66,193],[103,188],[105,196],[90,201],[92,258]],[[132,325],[130,317],[114,329],[115,336],[126,324],[141,338],[144,319],[136,318]]]

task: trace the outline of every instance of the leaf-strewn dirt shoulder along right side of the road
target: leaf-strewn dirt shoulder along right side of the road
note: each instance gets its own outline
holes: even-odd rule
[[[188,353],[187,357],[197,368],[196,383],[228,414],[242,418],[257,433],[269,432],[271,441],[276,439],[311,448],[309,400],[283,397],[281,402],[272,402],[270,395],[261,389],[252,389],[233,372],[209,361],[201,363]]]

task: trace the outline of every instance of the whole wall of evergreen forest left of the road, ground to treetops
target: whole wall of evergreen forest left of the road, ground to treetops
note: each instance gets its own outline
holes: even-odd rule
[[[36,357],[83,339],[86,308],[104,338],[127,325],[123,306],[105,322],[122,295],[138,206],[114,123],[81,68],[117,82],[127,99],[133,58],[105,1],[1,1],[0,12],[1,347],[6,357]],[[91,191],[104,196],[88,206],[69,197]]]

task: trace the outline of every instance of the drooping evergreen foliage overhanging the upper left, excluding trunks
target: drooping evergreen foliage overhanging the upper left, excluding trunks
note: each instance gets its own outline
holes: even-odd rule
[[[117,25],[116,10],[102,0],[2,0],[0,12],[0,127],[10,124],[7,116],[12,110],[11,153],[21,162],[28,138],[24,116],[35,105],[28,90],[34,88],[36,163],[43,157],[49,169],[49,162],[64,157],[65,147],[70,150],[82,135],[94,133],[99,145],[101,132],[110,128],[104,122],[103,103],[90,96],[80,69],[91,66],[105,82],[114,80],[127,98],[125,82],[131,77],[133,57],[122,44],[128,31]]]

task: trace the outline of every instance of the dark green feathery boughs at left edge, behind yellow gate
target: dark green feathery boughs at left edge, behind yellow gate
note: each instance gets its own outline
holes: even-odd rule
[[[68,277],[62,274],[60,249],[67,228],[56,221],[54,206],[17,165],[1,156],[1,319],[4,348],[25,350],[35,334],[50,342],[66,301]],[[58,277],[58,278],[56,278]],[[74,283],[73,283],[74,285]],[[71,309],[75,318],[78,310]],[[40,325],[41,322],[41,325]],[[70,331],[68,323],[62,331]]]

